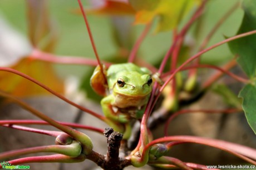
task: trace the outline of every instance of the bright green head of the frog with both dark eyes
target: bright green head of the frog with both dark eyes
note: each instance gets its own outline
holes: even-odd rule
[[[152,91],[152,78],[149,74],[140,74],[136,71],[116,74],[112,90],[114,94],[142,97]]]

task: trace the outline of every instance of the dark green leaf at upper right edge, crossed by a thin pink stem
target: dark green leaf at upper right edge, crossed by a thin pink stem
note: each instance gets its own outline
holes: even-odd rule
[[[242,7],[244,18],[237,34],[256,30],[256,1],[245,0],[243,1]],[[256,75],[255,42],[256,35],[253,34],[228,43],[232,53],[239,55],[237,61],[250,78],[254,78]]]

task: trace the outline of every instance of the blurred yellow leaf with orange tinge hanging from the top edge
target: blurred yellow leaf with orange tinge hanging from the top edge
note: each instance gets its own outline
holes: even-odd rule
[[[181,19],[194,6],[199,4],[198,0],[129,0],[137,10],[135,23],[146,24],[159,17],[156,31],[166,31],[178,27]]]

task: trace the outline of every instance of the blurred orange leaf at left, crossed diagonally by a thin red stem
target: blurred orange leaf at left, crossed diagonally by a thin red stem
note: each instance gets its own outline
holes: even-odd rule
[[[55,75],[55,71],[50,63],[23,58],[11,68],[31,76],[41,83],[51,87],[51,89],[56,92],[63,92],[62,80]],[[48,92],[45,89],[42,89],[42,87],[12,73],[1,71],[0,81],[1,90],[16,96],[24,97],[48,94]]]

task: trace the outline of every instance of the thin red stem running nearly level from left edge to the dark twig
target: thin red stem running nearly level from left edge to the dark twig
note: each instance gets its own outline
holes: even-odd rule
[[[104,132],[103,129],[97,128],[97,127],[80,125],[78,123],[59,122],[59,121],[57,122],[60,123],[61,125],[91,130],[91,131],[98,132],[100,134]],[[0,120],[0,125],[13,125],[13,124],[15,125],[50,125],[50,123],[42,120]]]

